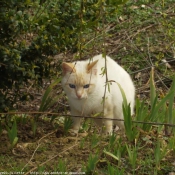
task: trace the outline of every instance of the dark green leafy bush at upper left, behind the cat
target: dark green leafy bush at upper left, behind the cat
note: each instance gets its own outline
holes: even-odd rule
[[[97,0],[1,0],[0,111],[8,111],[19,99],[32,98],[20,89],[29,80],[41,85],[44,78],[54,73],[53,55],[67,50],[82,51],[84,32],[97,28],[103,19],[102,9],[112,5],[109,11],[114,12],[121,3],[121,0],[106,4]]]

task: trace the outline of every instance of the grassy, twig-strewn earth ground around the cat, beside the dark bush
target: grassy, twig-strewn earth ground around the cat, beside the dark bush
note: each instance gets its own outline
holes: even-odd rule
[[[166,62],[174,61],[175,4],[168,2],[163,9],[157,1],[155,4],[146,4],[145,1],[146,5],[144,2],[129,4],[103,29],[99,28],[95,38],[89,38],[92,33],[86,35],[85,42],[88,44],[82,51],[82,59],[86,59],[101,53],[101,47],[105,46],[106,53],[131,74],[136,85],[136,98],[144,101],[148,111],[145,108],[143,111],[147,113],[151,108],[150,75],[155,76],[160,101],[169,92],[174,75],[173,62]],[[101,36],[102,30],[107,33],[105,42]],[[61,77],[61,62],[71,61],[74,57],[75,54],[70,52],[54,57],[52,65],[56,65],[57,77]],[[163,63],[162,59],[166,61]],[[151,73],[151,67],[155,68],[154,73]],[[167,133],[167,128],[159,125],[153,125],[148,131],[137,127],[139,133],[130,141],[120,132],[111,136],[102,135],[87,121],[83,122],[78,136],[72,136],[71,131],[67,132],[68,129],[64,127],[63,115],[69,114],[69,106],[60,83],[53,88],[53,94],[58,95],[57,103],[46,110],[58,115],[45,114],[39,115],[39,118],[37,114],[27,112],[39,110],[50,81],[45,80],[42,88],[33,88],[32,82],[29,84],[22,90],[30,92],[34,100],[16,104],[18,111],[25,111],[26,114],[5,116],[6,121],[1,126],[0,174],[37,174],[44,171],[45,174],[175,174],[175,132]],[[159,118],[165,117],[162,111],[168,108],[168,104],[159,111]],[[12,147],[5,124],[11,123],[14,118],[17,120],[18,142]],[[34,121],[34,118],[38,120]],[[161,119],[158,121],[162,122]]]

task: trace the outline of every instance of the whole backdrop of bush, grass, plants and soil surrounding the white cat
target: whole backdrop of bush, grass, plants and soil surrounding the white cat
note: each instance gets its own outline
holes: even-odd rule
[[[174,0],[0,0],[0,171],[174,173],[174,16]],[[87,120],[72,137],[60,64],[99,53],[131,74],[136,113],[126,135]]]

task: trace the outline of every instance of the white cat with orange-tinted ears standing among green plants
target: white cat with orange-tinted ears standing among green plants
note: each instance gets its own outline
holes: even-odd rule
[[[102,55],[86,61],[62,63],[62,87],[68,96],[71,115],[91,116],[102,112],[104,117],[123,119],[123,98],[117,83],[123,88],[133,114],[135,87],[129,74],[108,56],[106,65],[105,69],[105,58]],[[105,92],[106,77],[109,87],[106,86]],[[72,119],[73,131],[77,133],[81,120],[77,117]],[[105,133],[112,132],[113,124],[124,129],[124,122],[121,121],[99,120],[95,117],[94,120]]]

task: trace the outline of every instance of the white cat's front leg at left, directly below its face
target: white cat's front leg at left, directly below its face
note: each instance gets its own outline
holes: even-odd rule
[[[73,117],[73,116],[78,116],[80,113],[75,110],[71,109],[71,115],[72,115],[72,132],[75,134],[78,134],[78,131],[80,129],[80,123],[81,123],[81,118],[79,117]]]

